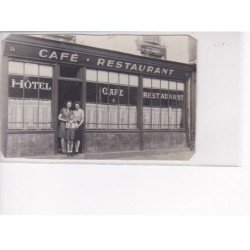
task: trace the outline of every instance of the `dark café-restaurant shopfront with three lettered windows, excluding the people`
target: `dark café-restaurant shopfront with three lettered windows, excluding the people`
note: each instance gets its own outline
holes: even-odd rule
[[[195,142],[195,66],[28,35],[3,42],[2,152],[60,152],[58,114],[85,112],[81,153],[182,150]]]

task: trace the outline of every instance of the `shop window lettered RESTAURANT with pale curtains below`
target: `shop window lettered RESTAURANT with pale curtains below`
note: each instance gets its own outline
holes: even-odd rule
[[[143,78],[144,129],[184,127],[184,83]]]

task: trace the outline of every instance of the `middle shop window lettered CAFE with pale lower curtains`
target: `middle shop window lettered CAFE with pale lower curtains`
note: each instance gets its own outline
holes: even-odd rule
[[[86,127],[137,129],[138,76],[87,70]]]

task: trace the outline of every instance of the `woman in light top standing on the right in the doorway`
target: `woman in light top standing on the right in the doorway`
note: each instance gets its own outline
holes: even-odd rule
[[[75,154],[79,154],[79,147],[82,140],[82,124],[84,122],[84,111],[80,108],[80,102],[75,102],[75,109],[73,110],[73,113],[78,124],[75,133]]]

